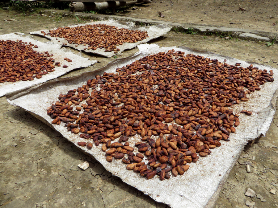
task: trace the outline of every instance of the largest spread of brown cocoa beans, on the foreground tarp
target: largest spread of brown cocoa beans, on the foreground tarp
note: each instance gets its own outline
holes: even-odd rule
[[[160,52],[60,94],[47,114],[52,124],[63,122],[78,134],[79,146],[101,144],[107,161],[122,159],[147,179],[169,179],[170,173],[183,175],[188,163],[206,157],[221,140],[229,141],[240,124],[229,107],[274,80],[271,70],[236,65]],[[141,141],[130,145],[130,137]]]

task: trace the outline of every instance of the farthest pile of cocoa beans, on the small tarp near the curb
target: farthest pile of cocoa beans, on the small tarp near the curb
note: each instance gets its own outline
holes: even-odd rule
[[[55,30],[49,30],[48,33],[41,31],[45,35],[51,37],[64,38],[70,44],[89,45],[84,48],[96,50],[97,48],[105,48],[105,51],[120,51],[117,46],[123,43],[136,43],[148,36],[147,31],[128,30],[125,28],[117,28],[115,26],[105,24],[84,25],[77,27],[58,27]],[[66,44],[65,44],[66,45]]]

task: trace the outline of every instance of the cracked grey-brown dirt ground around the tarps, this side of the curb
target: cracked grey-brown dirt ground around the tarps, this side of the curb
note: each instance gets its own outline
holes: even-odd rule
[[[199,6],[201,5],[200,3]],[[71,18],[15,14],[17,13],[0,11],[1,35],[11,32],[28,34],[28,31],[77,23],[76,19]],[[2,21],[7,16],[12,16],[17,21]],[[277,67],[274,62],[278,61],[277,44],[265,47],[256,42],[224,40],[217,36],[186,35],[172,31],[150,43],[159,46],[187,46],[257,63],[271,59],[267,64],[272,67]],[[137,51],[138,49],[125,51],[120,57]],[[95,59],[87,54],[83,55]],[[114,59],[96,58],[100,63],[72,71],[62,77],[98,69]],[[167,207],[112,176],[102,165],[81,153],[52,128],[23,109],[9,105],[5,97],[0,98],[0,109],[1,207]],[[246,200],[255,202],[257,208],[278,207],[277,126],[278,111],[266,137],[256,140],[252,145],[246,145],[242,157],[238,159],[221,190],[215,208],[247,208]],[[84,161],[90,163],[85,171],[77,166]],[[246,171],[246,164],[251,166],[250,173]],[[248,188],[259,195],[254,198],[245,196]],[[271,189],[276,190],[276,194],[271,194]]]

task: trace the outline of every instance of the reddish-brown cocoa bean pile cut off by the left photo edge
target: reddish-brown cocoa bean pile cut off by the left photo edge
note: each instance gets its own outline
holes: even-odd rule
[[[0,83],[40,79],[55,70],[54,59],[48,59],[53,54],[40,53],[32,47],[38,48],[31,42],[0,40]]]

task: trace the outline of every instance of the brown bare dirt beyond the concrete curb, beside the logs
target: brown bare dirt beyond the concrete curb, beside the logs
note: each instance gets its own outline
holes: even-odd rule
[[[277,7],[276,0],[153,0],[120,15],[277,33]]]

